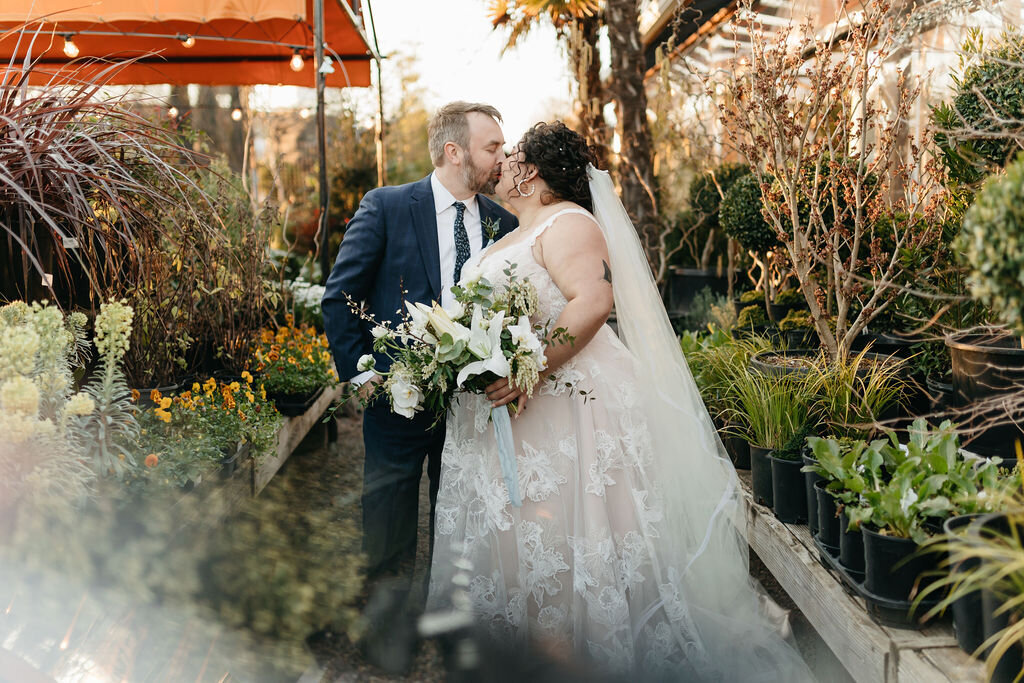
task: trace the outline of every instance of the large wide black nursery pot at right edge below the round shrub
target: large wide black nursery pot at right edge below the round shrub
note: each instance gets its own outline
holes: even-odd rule
[[[953,389],[962,408],[974,408],[973,414],[959,420],[966,429],[993,419],[997,424],[985,429],[965,446],[982,456],[1010,456],[1014,441],[1024,441],[1019,416],[1007,416],[1006,409],[993,404],[982,410],[986,399],[1020,391],[1024,386],[1024,348],[1021,337],[1008,333],[966,334],[946,338],[952,359]],[[1013,424],[1016,422],[1017,424]]]

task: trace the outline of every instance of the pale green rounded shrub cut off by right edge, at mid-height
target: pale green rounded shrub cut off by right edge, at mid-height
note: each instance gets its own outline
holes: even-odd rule
[[[1024,334],[1024,156],[985,182],[964,216],[958,247],[971,293]]]

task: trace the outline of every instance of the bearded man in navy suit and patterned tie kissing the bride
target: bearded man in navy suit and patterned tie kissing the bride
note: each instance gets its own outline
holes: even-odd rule
[[[381,377],[358,374],[356,361],[372,351],[370,326],[349,310],[346,295],[381,322],[394,323],[403,301],[453,301],[451,288],[463,264],[489,239],[516,227],[515,216],[483,195],[501,177],[505,138],[493,106],[452,102],[427,127],[434,171],[417,182],[367,193],[348,222],[338,259],[324,293],[324,326],[338,374],[372,391]],[[376,356],[377,368],[389,361]],[[366,446],[362,480],[362,550],[367,580],[384,579],[408,588],[416,558],[418,503],[423,461],[430,477],[430,541],[444,443],[443,418],[419,413],[407,419],[391,412],[386,397],[362,416]]]

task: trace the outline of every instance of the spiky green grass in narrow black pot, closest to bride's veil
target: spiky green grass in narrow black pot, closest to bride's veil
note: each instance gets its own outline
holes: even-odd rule
[[[734,422],[751,444],[754,498],[772,507],[771,451],[784,447],[811,420],[814,395],[809,375],[765,375],[754,369],[737,373]]]

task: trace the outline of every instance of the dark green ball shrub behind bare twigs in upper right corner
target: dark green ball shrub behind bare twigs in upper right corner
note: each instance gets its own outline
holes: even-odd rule
[[[977,59],[953,76],[956,94],[951,103],[936,106],[932,119],[950,176],[972,183],[1005,167],[1021,148],[1024,35],[1004,34],[984,51],[980,41],[966,48]]]

